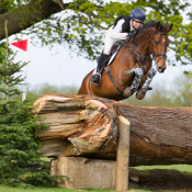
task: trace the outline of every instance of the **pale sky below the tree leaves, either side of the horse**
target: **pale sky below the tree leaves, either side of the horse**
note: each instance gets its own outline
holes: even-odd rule
[[[13,41],[10,41],[13,43]],[[83,77],[97,67],[97,61],[88,60],[83,57],[69,55],[60,45],[53,49],[48,47],[29,45],[27,52],[23,52],[11,45],[13,52],[18,50],[15,61],[29,61],[27,83],[35,88],[44,83],[56,87],[76,86],[80,87]],[[168,55],[169,56],[169,55]],[[192,69],[192,66],[168,66],[163,74],[157,72],[151,82],[151,87],[165,86],[167,89],[174,87],[174,79],[180,77],[184,70]],[[23,70],[23,76],[25,69]]]

